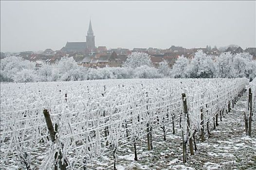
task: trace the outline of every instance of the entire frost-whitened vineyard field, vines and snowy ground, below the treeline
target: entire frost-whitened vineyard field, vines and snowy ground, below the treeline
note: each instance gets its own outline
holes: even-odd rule
[[[245,136],[247,91],[241,96],[248,84],[245,78],[1,84],[1,169],[51,170],[58,151],[62,159],[56,161],[74,170],[113,169],[114,160],[118,170],[253,170],[255,128],[252,137]],[[54,142],[45,109],[55,128]],[[185,140],[194,135],[197,143],[194,155],[187,147],[185,164],[182,131]]]

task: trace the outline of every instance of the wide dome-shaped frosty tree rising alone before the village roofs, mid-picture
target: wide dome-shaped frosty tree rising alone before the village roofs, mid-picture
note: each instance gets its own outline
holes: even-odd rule
[[[123,64],[124,67],[137,68],[140,66],[152,66],[152,62],[147,53],[144,52],[132,52],[128,55],[126,62]]]

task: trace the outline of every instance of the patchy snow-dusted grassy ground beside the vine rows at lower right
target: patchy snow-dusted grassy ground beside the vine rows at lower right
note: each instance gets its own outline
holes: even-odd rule
[[[247,92],[246,92],[247,93]],[[188,153],[183,164],[182,138],[176,124],[177,133],[166,127],[166,141],[161,129],[153,133],[153,151],[147,151],[146,140],[138,142],[138,161],[134,161],[132,146],[117,151],[117,170],[256,170],[256,117],[253,116],[252,136],[245,135],[244,115],[247,97],[237,102],[231,113],[224,114],[219,126],[213,129],[206,141],[197,136],[197,151]],[[254,110],[256,113],[256,110]],[[143,146],[143,147],[139,147]],[[189,149],[187,149],[189,150]],[[112,170],[113,159],[104,156],[89,164],[92,170]]]

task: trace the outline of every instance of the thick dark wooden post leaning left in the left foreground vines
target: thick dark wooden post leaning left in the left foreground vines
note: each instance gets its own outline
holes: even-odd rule
[[[49,134],[50,134],[50,137],[51,137],[51,140],[52,142],[55,142],[55,130],[54,130],[54,126],[53,126],[53,123],[52,123],[52,119],[50,117],[50,114],[48,112],[47,109],[44,109],[43,110],[43,114],[44,114],[44,118],[45,118],[45,121],[46,121],[46,125],[47,125],[47,128],[48,128],[48,131],[49,131]],[[57,129],[57,126],[55,126],[56,129]],[[62,161],[61,159],[63,158],[62,156],[62,153],[61,151],[57,151],[55,153],[55,159],[58,159],[58,164],[59,164],[59,168],[60,170],[67,170],[66,169],[66,165],[68,165],[68,162],[66,159],[64,159],[64,163],[62,164]],[[55,170],[58,170],[58,166],[55,164]]]

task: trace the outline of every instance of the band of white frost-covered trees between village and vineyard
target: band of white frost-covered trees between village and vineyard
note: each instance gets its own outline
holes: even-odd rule
[[[36,63],[21,57],[9,56],[0,60],[1,82],[50,82],[82,81],[95,79],[131,78],[236,78],[256,76],[256,61],[252,55],[243,52],[221,53],[215,58],[203,51],[196,52],[193,59],[179,57],[172,69],[164,60],[154,68],[146,53],[133,52],[123,67],[85,68],[78,66],[72,57],[63,57],[54,65],[43,64],[36,69]]]

